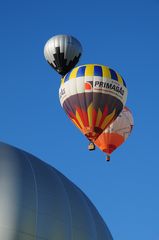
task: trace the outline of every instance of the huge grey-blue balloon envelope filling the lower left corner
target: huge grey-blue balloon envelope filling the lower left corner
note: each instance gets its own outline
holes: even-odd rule
[[[63,174],[0,143],[0,239],[112,240],[98,211]]]

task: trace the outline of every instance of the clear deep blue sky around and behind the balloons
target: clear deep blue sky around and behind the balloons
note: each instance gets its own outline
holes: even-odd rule
[[[159,239],[159,2],[1,1],[0,140],[48,162],[92,200],[115,240]],[[59,75],[45,42],[71,34],[80,64],[117,70],[128,87],[135,127],[105,161],[62,110]]]

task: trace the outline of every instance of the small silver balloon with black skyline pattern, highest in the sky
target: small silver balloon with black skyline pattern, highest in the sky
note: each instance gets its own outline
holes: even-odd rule
[[[68,73],[78,63],[81,53],[80,42],[69,35],[54,36],[44,47],[47,62],[61,75]]]

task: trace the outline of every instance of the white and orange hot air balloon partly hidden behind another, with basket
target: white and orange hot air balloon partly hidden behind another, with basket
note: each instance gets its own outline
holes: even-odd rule
[[[107,161],[110,160],[110,154],[128,138],[133,126],[132,113],[128,107],[124,107],[117,119],[97,138],[95,145],[107,154]]]

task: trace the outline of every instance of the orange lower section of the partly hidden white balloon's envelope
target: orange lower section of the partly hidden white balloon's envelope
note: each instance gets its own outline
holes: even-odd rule
[[[117,147],[124,142],[124,137],[117,133],[101,134],[95,144],[105,153],[111,154]]]

